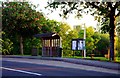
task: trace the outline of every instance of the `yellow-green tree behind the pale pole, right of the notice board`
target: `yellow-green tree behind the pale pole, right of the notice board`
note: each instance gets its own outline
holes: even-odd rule
[[[87,55],[93,53],[93,51],[96,48],[96,44],[99,41],[99,36],[97,33],[95,33],[94,28],[92,26],[86,27],[86,50]],[[81,26],[76,26],[75,30],[78,32],[78,36],[80,39],[84,38],[84,29],[82,29]]]

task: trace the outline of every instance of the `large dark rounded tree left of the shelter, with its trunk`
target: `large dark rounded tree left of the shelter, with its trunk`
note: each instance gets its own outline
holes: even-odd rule
[[[20,52],[23,55],[23,38],[31,38],[39,33],[45,18],[28,2],[3,2],[2,7],[2,30],[10,38],[19,37]]]

